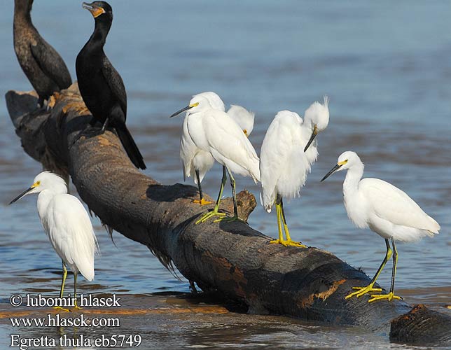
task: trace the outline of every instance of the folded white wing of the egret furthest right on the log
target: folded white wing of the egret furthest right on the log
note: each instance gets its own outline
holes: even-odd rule
[[[373,205],[377,216],[396,225],[438,232],[440,225],[399,188],[380,179],[363,179],[359,190]]]

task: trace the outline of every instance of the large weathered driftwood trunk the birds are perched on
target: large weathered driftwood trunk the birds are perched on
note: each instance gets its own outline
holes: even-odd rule
[[[195,219],[211,208],[191,203],[198,197],[195,187],[163,186],[139,172],[113,132],[82,136],[74,143],[91,118],[76,84],[55,95],[50,111],[35,110],[33,93],[10,91],[6,102],[22,146],[32,158],[47,169],[69,174],[83,201],[105,225],[145,244],[163,265],[170,269],[173,264],[200,288],[220,290],[247,304],[249,311],[359,325],[387,334],[391,320],[412,309],[402,300],[345,300],[352,286],[366,286],[370,278],[327,251],[268,244],[270,237],[240,222],[195,225]],[[225,211],[233,211],[230,199],[222,204]],[[243,191],[238,204],[240,217],[247,219],[256,200]],[[429,328],[427,342],[435,329],[451,332],[449,318],[438,313],[427,317],[437,325]],[[417,329],[420,334],[418,326],[410,323],[410,327],[410,335]],[[450,342],[443,332],[435,339]],[[408,338],[392,329],[391,340]]]

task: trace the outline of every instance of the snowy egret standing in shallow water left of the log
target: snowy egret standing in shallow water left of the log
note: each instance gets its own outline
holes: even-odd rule
[[[64,180],[51,172],[42,172],[37,175],[32,186],[15,197],[10,204],[32,193],[39,193],[39,218],[50,243],[62,260],[60,297],[63,297],[67,276],[66,265],[68,265],[74,272],[74,298],[76,298],[78,272],[81,272],[88,281],[94,279],[97,239],[88,213],[76,197],[67,193]],[[76,299],[75,307],[80,309]]]

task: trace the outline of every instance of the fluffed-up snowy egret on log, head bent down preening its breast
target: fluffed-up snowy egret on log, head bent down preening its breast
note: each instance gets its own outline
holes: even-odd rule
[[[318,157],[314,138],[326,129],[328,121],[328,99],[324,97],[324,105],[314,102],[305,111],[304,120],[298,113],[280,111],[268,127],[260,153],[261,204],[268,213],[276,204],[279,230],[279,239],[270,243],[305,247],[291,240],[283,198],[300,195],[300,188],[304,186],[307,174]],[[282,235],[282,223],[286,240]]]

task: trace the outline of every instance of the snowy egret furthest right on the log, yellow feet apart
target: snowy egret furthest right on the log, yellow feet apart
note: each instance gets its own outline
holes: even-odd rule
[[[373,288],[385,264],[393,254],[393,270],[391,272],[390,293],[371,295],[368,302],[375,300],[400,299],[394,295],[394,280],[398,251],[395,241],[415,241],[424,236],[438,234],[440,225],[427,215],[412,198],[399,188],[380,179],[361,179],[363,176],[363,162],[355,152],[344,152],[338,157],[338,162],[330,172],[324,176],[324,181],[334,172],[347,169],[343,183],[343,196],[347,216],[358,228],[370,228],[385,239],[387,253],[370,284],[366,287],[353,287],[354,293],[349,297],[361,297],[366,293],[381,292],[381,288]],[[389,239],[391,240],[390,248]]]

